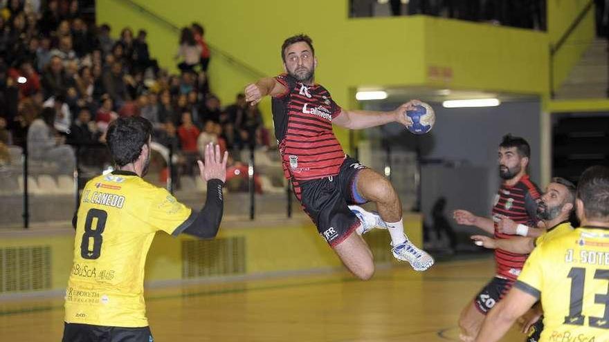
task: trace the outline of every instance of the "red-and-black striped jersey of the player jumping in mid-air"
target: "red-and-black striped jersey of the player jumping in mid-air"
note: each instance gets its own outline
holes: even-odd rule
[[[287,88],[272,101],[286,178],[313,180],[337,175],[345,152],[332,131],[332,119],[342,109],[319,84],[302,84],[287,74],[275,79]]]

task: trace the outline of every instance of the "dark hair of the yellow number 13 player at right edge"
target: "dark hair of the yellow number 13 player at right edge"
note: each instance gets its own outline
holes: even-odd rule
[[[577,198],[583,202],[585,218],[609,222],[609,167],[585,169],[577,184]]]

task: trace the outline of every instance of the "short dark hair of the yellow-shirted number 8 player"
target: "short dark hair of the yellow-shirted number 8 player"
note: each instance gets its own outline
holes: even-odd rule
[[[107,144],[118,167],[138,160],[142,148],[152,136],[152,124],[144,117],[119,117],[110,122]]]

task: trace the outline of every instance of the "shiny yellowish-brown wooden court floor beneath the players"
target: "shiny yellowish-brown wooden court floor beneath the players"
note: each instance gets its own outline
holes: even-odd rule
[[[149,289],[155,341],[458,341],[462,307],[493,275],[491,256],[409,267]],[[0,301],[0,341],[61,341],[62,298]],[[524,341],[512,330],[503,341]]]

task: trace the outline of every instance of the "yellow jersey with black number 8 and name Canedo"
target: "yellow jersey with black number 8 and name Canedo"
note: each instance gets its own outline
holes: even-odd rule
[[[156,231],[177,236],[191,210],[136,173],[93,178],[82,191],[65,321],[116,327],[148,325],[144,265]]]

